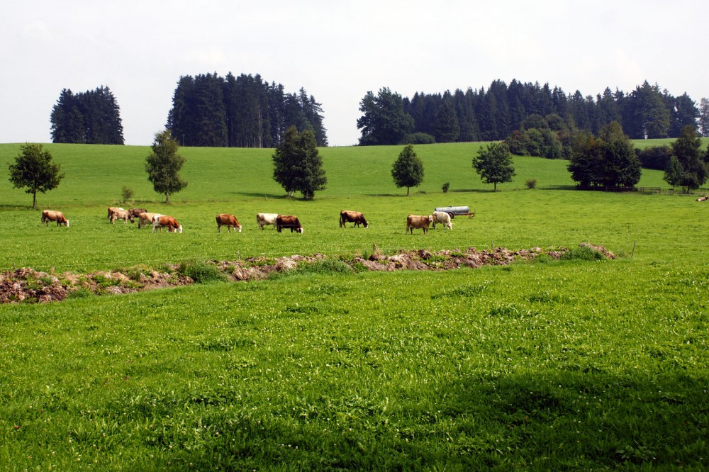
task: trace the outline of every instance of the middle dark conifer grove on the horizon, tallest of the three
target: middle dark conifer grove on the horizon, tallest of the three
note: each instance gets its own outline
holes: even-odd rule
[[[312,130],[327,146],[323,108],[301,88],[286,94],[259,74],[180,77],[172,96],[167,129],[184,146],[277,147],[286,128]]]

